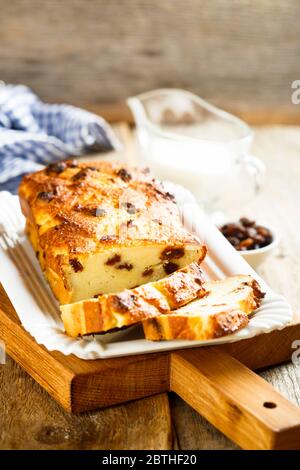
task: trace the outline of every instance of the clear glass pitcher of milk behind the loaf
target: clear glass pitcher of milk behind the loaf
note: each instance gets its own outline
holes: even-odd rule
[[[190,189],[207,210],[243,203],[259,189],[265,166],[250,154],[253,132],[242,120],[179,89],[127,103],[145,163],[158,178]]]

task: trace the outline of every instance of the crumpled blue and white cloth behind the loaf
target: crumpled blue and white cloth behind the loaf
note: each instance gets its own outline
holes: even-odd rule
[[[16,192],[25,173],[88,150],[119,149],[101,117],[43,103],[23,85],[0,85],[0,191]]]

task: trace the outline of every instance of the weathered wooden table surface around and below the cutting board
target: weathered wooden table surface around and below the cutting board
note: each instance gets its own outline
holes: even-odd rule
[[[238,215],[272,224],[281,233],[277,252],[259,273],[299,311],[300,128],[255,130],[253,153],[265,162],[267,178],[261,193]],[[126,128],[118,131],[128,138]],[[130,145],[125,152],[131,155]],[[300,404],[300,366],[287,364],[261,375]],[[237,448],[173,394],[70,415],[9,357],[0,365],[0,423],[0,449]]]

